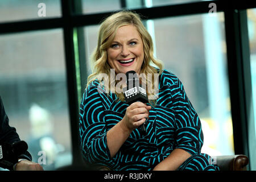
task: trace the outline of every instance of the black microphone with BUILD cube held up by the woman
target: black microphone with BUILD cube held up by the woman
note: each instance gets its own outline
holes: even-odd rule
[[[142,88],[142,85],[139,83],[137,73],[135,71],[129,71],[126,72],[125,75],[127,87],[123,88],[123,94],[127,104],[131,105],[137,101],[147,103],[147,92],[146,89]],[[146,134],[146,127],[147,120],[140,126],[143,135]]]

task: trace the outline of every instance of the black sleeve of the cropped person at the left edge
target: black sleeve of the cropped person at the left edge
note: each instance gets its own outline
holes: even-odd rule
[[[9,125],[9,118],[5,113],[5,108],[3,107],[3,102],[0,96],[0,144],[9,143],[13,144],[14,142],[19,142],[20,138],[18,133],[16,133],[15,127]],[[19,158],[32,160],[32,156],[28,151],[20,155]]]

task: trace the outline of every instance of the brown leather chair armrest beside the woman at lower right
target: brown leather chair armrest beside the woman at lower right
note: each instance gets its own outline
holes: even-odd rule
[[[221,155],[215,158],[221,171],[246,171],[249,163],[246,155]]]

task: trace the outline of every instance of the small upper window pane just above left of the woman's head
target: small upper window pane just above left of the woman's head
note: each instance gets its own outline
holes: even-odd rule
[[[121,9],[120,0],[82,0],[82,13],[102,13]]]

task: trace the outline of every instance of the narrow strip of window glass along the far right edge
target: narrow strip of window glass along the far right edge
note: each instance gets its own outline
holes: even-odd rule
[[[250,65],[251,65],[251,88],[253,112],[248,123],[248,139],[250,152],[250,169],[256,170],[256,9],[247,10],[247,24],[250,41]],[[249,106],[249,107],[250,107]],[[251,108],[249,108],[251,109]]]

